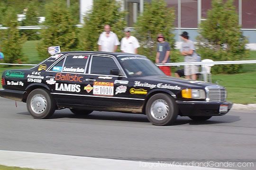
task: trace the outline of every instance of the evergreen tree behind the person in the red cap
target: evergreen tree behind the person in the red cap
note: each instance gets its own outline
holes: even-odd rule
[[[136,37],[141,45],[139,53],[155,60],[157,34],[164,34],[165,41],[174,49],[174,8],[168,8],[165,0],[152,0],[152,3],[145,3],[144,9],[135,24]],[[177,55],[171,51],[171,60],[174,62]]]

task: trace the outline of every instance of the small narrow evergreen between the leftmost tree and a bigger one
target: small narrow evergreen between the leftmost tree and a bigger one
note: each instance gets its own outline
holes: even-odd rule
[[[37,6],[34,2],[30,2],[27,6],[26,19],[21,22],[22,26],[38,26],[39,25],[39,15],[37,12]],[[27,36],[27,40],[38,40],[39,35],[37,30],[22,30],[23,34]]]

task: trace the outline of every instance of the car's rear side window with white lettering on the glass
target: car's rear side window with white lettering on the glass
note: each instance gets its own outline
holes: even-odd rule
[[[63,72],[84,73],[88,55],[69,55],[66,57]]]

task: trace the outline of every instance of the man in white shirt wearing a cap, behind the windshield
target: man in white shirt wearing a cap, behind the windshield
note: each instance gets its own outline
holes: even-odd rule
[[[140,47],[137,38],[130,35],[130,28],[125,28],[125,37],[121,40],[121,51],[127,53],[137,54],[137,48]]]

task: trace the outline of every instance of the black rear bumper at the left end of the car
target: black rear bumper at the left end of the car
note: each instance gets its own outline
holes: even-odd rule
[[[15,100],[18,102],[22,102],[22,99],[25,93],[26,91],[21,91],[21,90],[0,89],[1,97]]]

